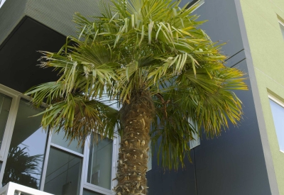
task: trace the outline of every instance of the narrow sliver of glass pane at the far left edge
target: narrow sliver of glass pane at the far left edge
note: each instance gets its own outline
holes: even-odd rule
[[[0,94],[0,149],[9,116],[12,99],[9,96]]]

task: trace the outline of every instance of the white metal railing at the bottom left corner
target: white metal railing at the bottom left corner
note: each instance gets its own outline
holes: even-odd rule
[[[0,195],[53,195],[38,189],[9,182],[6,186],[0,188]]]

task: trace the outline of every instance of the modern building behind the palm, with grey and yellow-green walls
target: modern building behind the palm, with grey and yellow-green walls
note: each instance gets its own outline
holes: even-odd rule
[[[185,4],[186,1],[182,1]],[[113,194],[119,136],[85,147],[40,128],[40,112],[23,92],[54,81],[35,66],[38,50],[56,52],[75,35],[73,14],[99,14],[98,1],[6,0],[0,8],[0,183],[15,182],[50,194]],[[284,195],[284,3],[281,0],[204,0],[195,14],[202,29],[226,42],[226,66],[247,72],[249,91],[238,127],[192,148],[192,162],[177,172],[157,165],[147,172],[150,195]],[[282,30],[282,31],[281,31]],[[281,34],[282,33],[282,34]],[[283,37],[282,37],[283,35]],[[43,105],[44,108],[44,105]],[[282,124],[282,125],[281,125]],[[102,155],[103,154],[103,155]],[[21,163],[20,163],[21,162]]]

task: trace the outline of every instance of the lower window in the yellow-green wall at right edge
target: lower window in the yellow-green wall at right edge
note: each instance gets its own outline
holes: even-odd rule
[[[284,104],[282,101],[279,101],[271,95],[269,96],[269,102],[271,104],[271,112],[280,151],[284,152]]]

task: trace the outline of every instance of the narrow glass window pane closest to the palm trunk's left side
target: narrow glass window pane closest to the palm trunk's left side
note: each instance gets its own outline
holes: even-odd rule
[[[106,138],[99,143],[92,143],[89,149],[87,182],[106,189],[111,189],[112,143]]]

